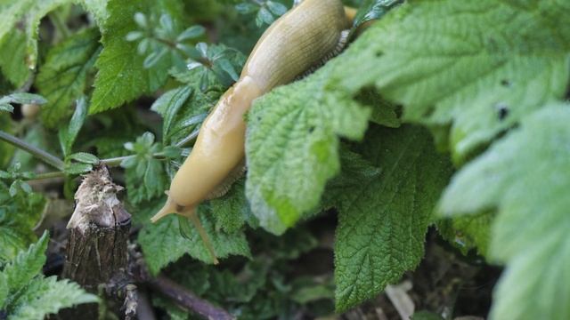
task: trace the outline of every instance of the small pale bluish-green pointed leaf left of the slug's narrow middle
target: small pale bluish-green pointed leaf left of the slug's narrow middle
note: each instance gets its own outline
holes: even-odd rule
[[[192,89],[190,86],[182,86],[168,92],[165,92],[159,99],[154,101],[151,106],[153,111],[158,112],[163,118],[162,124],[162,140],[167,143],[170,136],[170,128],[175,121],[178,110],[188,100]]]

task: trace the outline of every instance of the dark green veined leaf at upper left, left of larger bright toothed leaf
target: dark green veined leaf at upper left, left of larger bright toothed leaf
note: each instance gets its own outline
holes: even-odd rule
[[[87,87],[87,75],[101,51],[99,31],[87,28],[54,46],[37,75],[37,89],[49,101],[42,108],[42,120],[48,127],[61,124],[71,114],[71,103]]]

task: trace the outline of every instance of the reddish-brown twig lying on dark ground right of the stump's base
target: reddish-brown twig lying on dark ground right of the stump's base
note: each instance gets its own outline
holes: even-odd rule
[[[175,284],[175,282],[167,279],[164,276],[158,276],[154,279],[150,279],[148,281],[148,284],[172,300],[175,300],[175,302],[180,306],[191,309],[198,313],[200,316],[204,316],[208,319],[235,319],[235,317],[232,316],[229,312],[225,311],[222,308],[217,308],[207,300],[199,299],[193,293],[188,292],[182,286]]]

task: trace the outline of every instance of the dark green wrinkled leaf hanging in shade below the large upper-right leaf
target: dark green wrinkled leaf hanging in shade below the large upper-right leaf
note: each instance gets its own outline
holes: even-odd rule
[[[338,311],[375,297],[418,265],[431,212],[451,176],[451,164],[419,127],[372,126],[356,149],[379,172],[344,156],[347,167],[327,189],[325,203],[338,208]]]

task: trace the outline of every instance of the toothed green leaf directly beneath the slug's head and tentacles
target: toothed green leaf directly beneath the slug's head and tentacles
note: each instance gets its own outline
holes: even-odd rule
[[[149,222],[151,216],[159,211],[164,201],[166,198],[161,198],[149,210],[143,211],[140,216],[146,225],[139,233],[138,241],[151,273],[157,274],[161,268],[180,259],[186,253],[200,261],[212,263],[212,257],[199,237],[196,228],[190,228],[187,235],[189,238],[187,238],[181,234],[178,217],[175,215],[167,216],[156,225]],[[251,253],[244,233],[242,231],[216,230],[214,228],[214,214],[216,212],[212,212],[208,205],[199,207],[199,219],[210,237],[217,258],[225,258],[233,254],[250,257]]]

